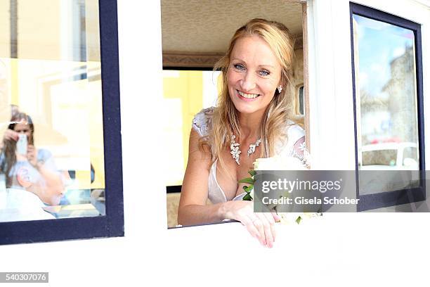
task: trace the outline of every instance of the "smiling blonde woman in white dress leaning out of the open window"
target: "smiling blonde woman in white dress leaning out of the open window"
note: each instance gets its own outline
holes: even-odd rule
[[[287,27],[263,19],[233,35],[215,67],[223,81],[217,107],[193,120],[179,224],[235,219],[262,245],[273,246],[278,216],[254,212],[251,201],[241,200],[243,184],[237,182],[256,158],[297,155],[304,144],[303,129],[289,120],[293,46]],[[206,205],[208,198],[213,205]]]

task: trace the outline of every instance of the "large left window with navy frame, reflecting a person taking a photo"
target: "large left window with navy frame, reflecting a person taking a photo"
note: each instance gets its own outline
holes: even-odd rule
[[[116,9],[0,4],[0,243],[124,234]]]

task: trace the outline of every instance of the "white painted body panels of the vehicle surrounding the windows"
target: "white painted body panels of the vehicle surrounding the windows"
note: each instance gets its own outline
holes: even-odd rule
[[[352,157],[349,12],[342,1],[309,1],[308,9],[311,145],[315,162],[327,168],[349,167]],[[430,95],[429,8],[418,3],[424,0],[358,2],[422,23],[424,94]],[[118,8],[126,236],[0,246],[0,271],[48,271],[51,286],[425,285],[428,212],[327,214],[308,225],[278,226],[272,250],[240,224],[166,230],[157,150],[159,1],[118,1]]]

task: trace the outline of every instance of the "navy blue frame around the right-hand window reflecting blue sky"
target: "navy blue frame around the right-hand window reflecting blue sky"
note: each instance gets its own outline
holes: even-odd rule
[[[419,143],[419,170],[420,170],[420,184],[415,189],[405,189],[398,191],[389,191],[384,193],[374,193],[369,195],[359,194],[359,180],[358,180],[358,142],[356,136],[356,184],[357,184],[357,198],[360,201],[357,206],[357,211],[372,210],[376,208],[385,208],[394,205],[405,203],[414,203],[417,201],[426,200],[426,186],[425,186],[425,157],[424,157],[424,106],[423,106],[423,86],[422,86],[422,49],[421,49],[421,25],[414,23],[410,20],[400,18],[389,13],[353,4],[350,2],[350,25],[351,25],[351,65],[353,68],[353,113],[354,113],[354,131],[357,135],[357,115],[356,115],[356,79],[354,70],[354,44],[353,44],[353,14],[361,15],[366,18],[382,21],[399,27],[403,27],[414,32],[415,36],[415,64],[417,75],[417,113],[418,113],[418,143]]]

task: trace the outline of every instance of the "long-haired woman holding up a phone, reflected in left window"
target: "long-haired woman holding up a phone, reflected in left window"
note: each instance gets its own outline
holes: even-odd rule
[[[48,205],[60,203],[63,177],[51,153],[34,146],[34,125],[29,115],[13,113],[0,146],[0,172],[6,174],[7,188],[34,193]]]

